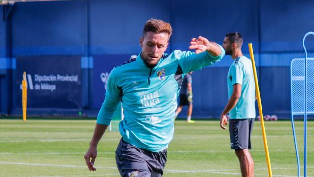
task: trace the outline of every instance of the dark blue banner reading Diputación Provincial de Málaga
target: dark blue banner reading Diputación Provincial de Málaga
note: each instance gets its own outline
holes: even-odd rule
[[[27,74],[28,108],[81,107],[80,56],[25,56],[16,58],[16,106],[21,106],[21,81]]]

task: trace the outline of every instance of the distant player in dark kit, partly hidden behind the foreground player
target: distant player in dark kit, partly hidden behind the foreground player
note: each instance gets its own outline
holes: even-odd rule
[[[175,115],[175,118],[177,118],[178,114],[182,111],[183,106],[188,106],[187,123],[195,123],[194,120],[191,120],[193,111],[192,73],[193,71],[187,73],[183,78],[179,95],[179,107],[177,108]]]

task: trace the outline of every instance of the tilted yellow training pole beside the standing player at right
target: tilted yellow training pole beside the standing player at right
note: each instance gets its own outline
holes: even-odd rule
[[[266,160],[267,160],[267,166],[268,166],[268,174],[269,174],[269,177],[272,177],[273,174],[271,172],[269,151],[268,151],[266,131],[265,131],[265,125],[264,125],[264,117],[263,117],[263,110],[262,110],[261,95],[260,95],[260,89],[259,89],[259,82],[257,80],[256,67],[255,67],[254,54],[253,54],[253,47],[252,47],[251,43],[249,43],[249,51],[250,51],[250,56],[251,56],[251,60],[252,60],[252,68],[253,68],[254,81],[255,81],[255,91],[256,91],[256,95],[257,95],[257,102],[258,102],[258,105],[259,105],[259,112],[260,112],[260,117],[261,117],[261,126],[262,126],[264,148],[265,148]]]

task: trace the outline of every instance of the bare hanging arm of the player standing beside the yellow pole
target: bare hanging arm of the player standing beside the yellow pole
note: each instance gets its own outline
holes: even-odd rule
[[[241,90],[242,90],[242,84],[233,85],[232,95],[230,96],[229,101],[220,116],[220,127],[222,129],[226,129],[226,127],[224,126],[224,125],[227,125],[226,115],[235,107],[235,105],[239,101],[241,97]]]

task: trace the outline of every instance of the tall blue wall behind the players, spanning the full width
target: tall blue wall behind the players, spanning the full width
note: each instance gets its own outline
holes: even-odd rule
[[[3,6],[0,7],[3,14]],[[15,3],[8,19],[0,21],[0,113],[20,110],[18,103],[10,101],[15,100],[17,93],[3,96],[10,87],[16,87],[12,82],[20,79],[15,74],[14,59],[20,56],[81,56],[80,109],[99,109],[105,93],[100,73],[110,72],[110,67],[120,64],[124,57],[138,54],[145,21],[158,18],[173,27],[167,52],[188,50],[190,39],[199,35],[221,44],[225,34],[242,33],[246,56],[249,56],[247,44],[253,43],[264,114],[287,118],[289,64],[293,58],[304,58],[302,38],[306,32],[314,31],[313,7],[313,0]],[[314,36],[307,39],[306,45],[309,56],[314,56]],[[219,116],[228,100],[226,75],[231,62],[230,56],[226,56],[220,63],[194,72],[194,117]]]

